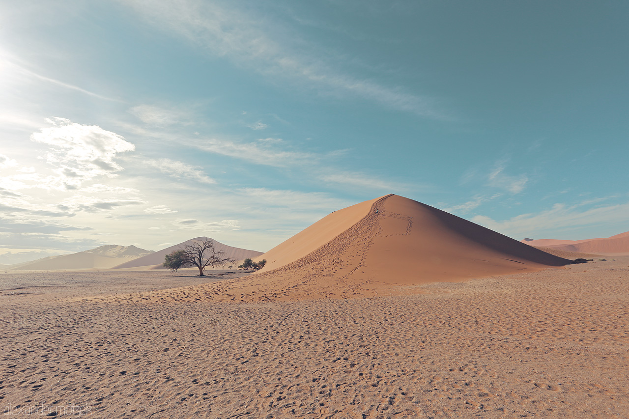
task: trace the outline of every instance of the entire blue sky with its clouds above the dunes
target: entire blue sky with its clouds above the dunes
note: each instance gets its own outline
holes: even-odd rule
[[[629,230],[625,1],[0,1],[0,263],[406,196]]]

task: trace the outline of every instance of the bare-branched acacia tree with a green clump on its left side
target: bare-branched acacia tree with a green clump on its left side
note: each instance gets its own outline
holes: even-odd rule
[[[192,244],[166,255],[164,267],[170,269],[170,272],[176,272],[179,268],[196,266],[199,268],[199,276],[205,276],[203,271],[206,266],[223,267],[235,262],[235,260],[225,257],[225,251],[216,250],[214,245],[214,241],[209,238],[203,242],[192,242]]]

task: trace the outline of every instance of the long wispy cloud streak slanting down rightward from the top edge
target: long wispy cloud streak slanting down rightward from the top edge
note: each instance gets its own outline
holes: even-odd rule
[[[278,22],[270,23],[248,15],[229,3],[199,0],[121,0],[163,30],[184,36],[214,55],[227,57],[262,74],[292,80],[328,94],[355,94],[390,108],[430,118],[444,118],[433,100],[415,96],[401,87],[387,87],[338,70],[323,53],[305,53],[279,30]],[[266,26],[265,26],[266,25]]]

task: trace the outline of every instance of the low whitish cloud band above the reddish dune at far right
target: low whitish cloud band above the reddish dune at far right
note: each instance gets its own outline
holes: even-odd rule
[[[496,221],[477,215],[474,223],[486,226],[510,237],[550,236],[560,230],[575,230],[589,225],[626,225],[629,223],[629,203],[580,210],[582,204],[555,204],[540,213],[522,214],[509,220]]]

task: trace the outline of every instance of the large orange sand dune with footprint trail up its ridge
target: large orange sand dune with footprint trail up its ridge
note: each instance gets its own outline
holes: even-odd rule
[[[408,198],[387,195],[335,211],[257,259],[245,279],[142,296],[150,301],[283,301],[413,293],[570,261]]]

